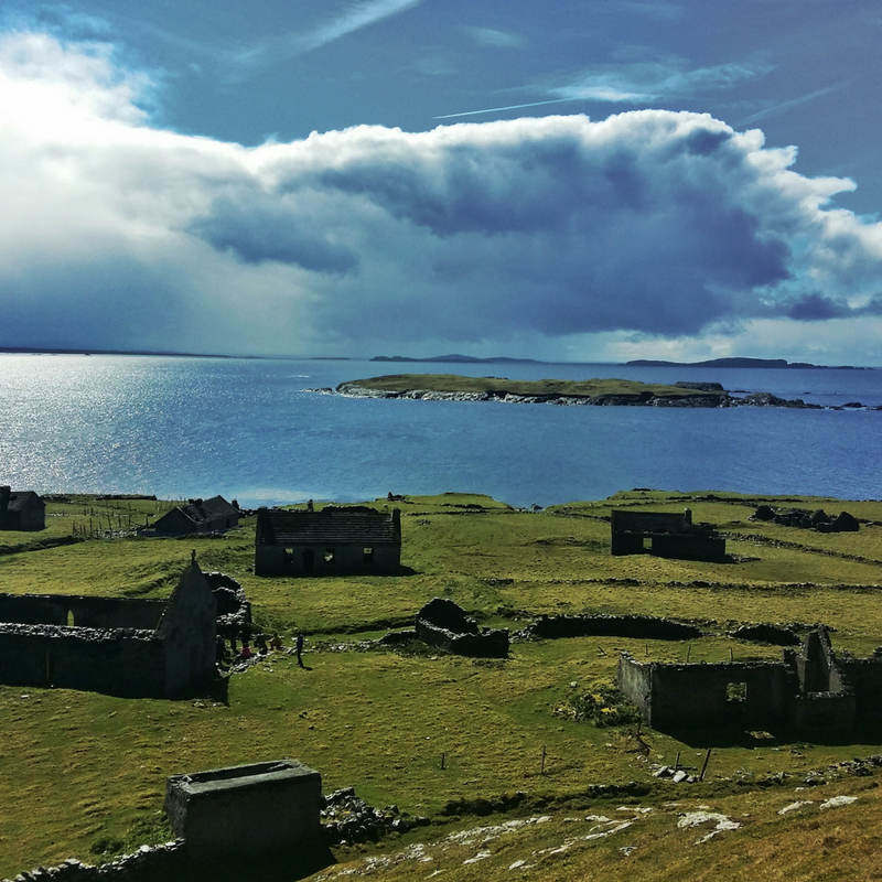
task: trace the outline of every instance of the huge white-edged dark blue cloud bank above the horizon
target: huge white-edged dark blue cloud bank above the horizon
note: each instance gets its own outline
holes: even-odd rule
[[[146,94],[106,46],[0,40],[0,345],[372,353],[878,321],[882,225],[759,130],[641,110],[244,148],[154,128]]]

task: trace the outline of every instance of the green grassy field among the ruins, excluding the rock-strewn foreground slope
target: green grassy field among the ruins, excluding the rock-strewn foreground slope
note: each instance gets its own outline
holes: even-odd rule
[[[652,510],[688,504],[696,519],[802,548],[736,541],[730,548],[741,560],[734,563],[612,558],[609,525],[598,518],[613,504]],[[882,503],[813,501],[809,507],[821,504],[882,520]],[[411,576],[256,578],[249,572],[254,524],[246,521],[224,539],[90,540],[2,556],[0,581],[6,591],[163,596],[195,548],[205,569],[243,581],[259,622],[288,636],[304,627],[316,638],[355,639],[341,632],[369,635],[384,620],[404,622],[442,594],[485,621],[512,626],[527,614],[602,610],[720,625],[824,621],[837,628],[840,647],[865,654],[882,643],[880,590],[868,588],[882,582],[882,567],[872,562],[882,558],[882,526],[864,526],[857,536],[761,527],[745,519],[753,508],[740,497],[685,501],[657,493],[539,514],[456,494],[395,505],[402,509]],[[837,556],[819,553],[830,550]],[[612,581],[625,578],[636,583]],[[704,584],[687,587],[697,580]],[[794,584],[803,582],[810,584]],[[28,806],[0,816],[0,875],[71,854],[87,858],[106,838],[136,845],[161,838],[166,775],[271,756],[294,755],[321,770],[326,788],[355,784],[369,799],[427,814],[460,795],[567,793],[592,781],[647,779],[625,730],[550,712],[570,682],[579,689],[609,682],[622,648],[659,659],[686,652],[679,643],[615,637],[516,644],[506,663],[309,652],[309,671],[275,655],[233,678],[227,707],[0,687],[0,800]],[[692,644],[691,658],[722,660],[730,649],[736,658],[777,655],[709,636]],[[680,750],[695,763],[702,750],[657,733],[649,743],[650,760],[671,761]],[[549,754],[544,777],[537,774],[541,744]],[[762,742],[717,751],[712,772],[804,772],[878,750]]]

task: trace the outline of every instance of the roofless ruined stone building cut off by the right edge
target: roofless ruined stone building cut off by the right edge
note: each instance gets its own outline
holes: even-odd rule
[[[619,659],[620,690],[660,731],[740,729],[849,738],[882,722],[882,647],[835,653],[826,627],[781,662],[663,664]]]

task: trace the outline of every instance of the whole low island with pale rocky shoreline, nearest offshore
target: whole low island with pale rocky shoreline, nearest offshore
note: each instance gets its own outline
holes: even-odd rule
[[[423,401],[499,401],[514,405],[595,407],[786,407],[807,410],[864,409],[860,401],[833,408],[781,398],[760,391],[736,395],[719,383],[680,381],[673,385],[637,380],[512,380],[506,377],[466,377],[455,374],[392,374],[346,380],[336,388],[304,389],[349,398],[405,398]],[[882,410],[882,407],[865,408]]]

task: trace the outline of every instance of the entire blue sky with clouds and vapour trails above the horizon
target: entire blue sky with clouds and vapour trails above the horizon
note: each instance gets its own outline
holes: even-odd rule
[[[0,346],[882,366],[876,0],[0,4]]]

